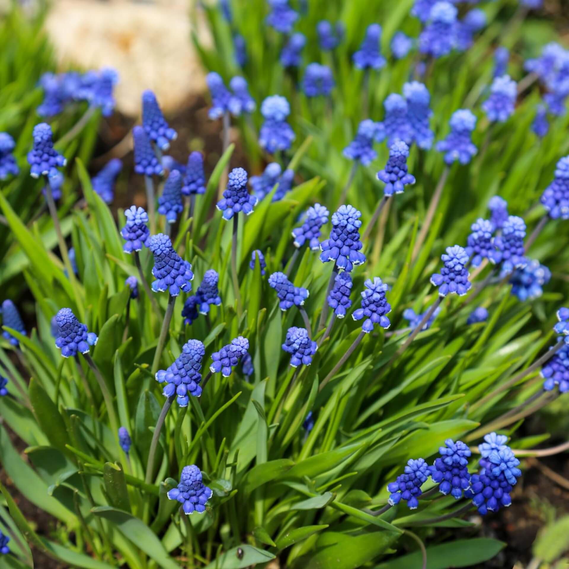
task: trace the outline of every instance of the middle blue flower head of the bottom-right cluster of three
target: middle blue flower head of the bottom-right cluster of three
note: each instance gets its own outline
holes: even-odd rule
[[[447,439],[446,447],[439,448],[440,458],[430,467],[431,477],[439,483],[439,492],[445,496],[451,493],[455,500],[462,497],[463,491],[470,487],[468,457],[471,451],[466,444]]]

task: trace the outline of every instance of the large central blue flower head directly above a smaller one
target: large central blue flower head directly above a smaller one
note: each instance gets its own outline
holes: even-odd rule
[[[335,261],[339,269],[351,272],[354,265],[365,263],[360,241],[361,212],[352,205],[340,205],[332,214],[330,237],[320,244],[320,261]]]

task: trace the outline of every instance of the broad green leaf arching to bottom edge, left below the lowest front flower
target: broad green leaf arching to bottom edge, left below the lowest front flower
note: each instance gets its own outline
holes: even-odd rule
[[[180,569],[178,563],[168,555],[162,542],[141,519],[110,506],[97,506],[92,508],[91,512],[96,516],[107,519],[112,525],[116,526],[135,546],[154,559],[160,569]]]

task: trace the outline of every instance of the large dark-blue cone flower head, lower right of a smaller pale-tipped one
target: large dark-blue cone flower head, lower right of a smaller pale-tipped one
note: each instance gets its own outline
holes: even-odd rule
[[[170,237],[163,233],[153,235],[150,237],[148,248],[154,254],[152,275],[156,280],[151,284],[152,291],[169,291],[170,296],[178,296],[180,291],[192,290],[192,265],[176,253]]]

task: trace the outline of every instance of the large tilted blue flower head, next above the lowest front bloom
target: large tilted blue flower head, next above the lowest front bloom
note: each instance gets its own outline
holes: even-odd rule
[[[188,340],[182,347],[182,353],[168,369],[156,372],[156,381],[164,385],[165,397],[178,395],[176,401],[180,407],[187,407],[189,395],[201,395],[201,360],[205,355],[204,345],[199,340]]]

